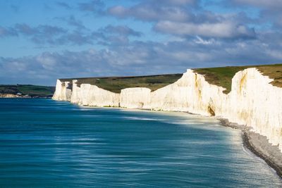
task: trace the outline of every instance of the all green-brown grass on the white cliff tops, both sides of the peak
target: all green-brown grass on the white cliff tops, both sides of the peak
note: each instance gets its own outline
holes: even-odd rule
[[[195,73],[204,75],[207,82],[226,88],[224,93],[231,91],[232,78],[240,70],[245,68],[257,68],[263,75],[274,79],[271,84],[282,87],[282,64],[275,65],[251,65],[251,66],[228,66],[219,68],[195,68]],[[63,82],[78,80],[77,84],[93,84],[111,92],[120,93],[121,89],[128,87],[147,87],[152,91],[168,84],[176,82],[183,74],[150,75],[136,77],[84,77],[72,79],[60,79]]]

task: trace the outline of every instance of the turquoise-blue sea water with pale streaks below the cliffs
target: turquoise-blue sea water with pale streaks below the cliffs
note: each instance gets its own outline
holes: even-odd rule
[[[281,186],[212,118],[0,99],[0,187]]]

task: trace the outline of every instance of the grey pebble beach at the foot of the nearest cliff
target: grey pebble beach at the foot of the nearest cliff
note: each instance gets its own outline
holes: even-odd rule
[[[218,118],[220,124],[224,127],[231,127],[242,131],[243,146],[249,149],[259,158],[262,158],[273,168],[276,174],[282,178],[282,153],[278,149],[278,146],[272,146],[268,139],[258,133],[252,132],[250,127],[245,125],[238,125],[237,123],[231,123],[227,119]]]

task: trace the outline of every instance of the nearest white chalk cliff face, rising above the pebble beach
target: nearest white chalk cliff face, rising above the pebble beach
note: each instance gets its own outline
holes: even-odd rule
[[[269,84],[271,81],[256,68],[236,73],[221,115],[252,127],[282,151],[282,89]]]

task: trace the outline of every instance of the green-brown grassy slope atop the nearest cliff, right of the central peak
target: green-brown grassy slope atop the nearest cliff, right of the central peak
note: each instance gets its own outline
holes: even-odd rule
[[[220,68],[196,68],[196,73],[204,75],[207,82],[226,88],[224,93],[231,91],[231,81],[235,73],[245,68],[257,68],[263,75],[274,79],[271,84],[276,87],[282,87],[282,64],[274,65],[252,65],[252,66],[234,66]]]

